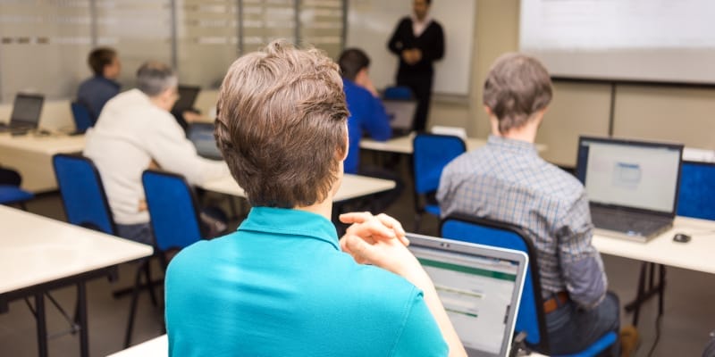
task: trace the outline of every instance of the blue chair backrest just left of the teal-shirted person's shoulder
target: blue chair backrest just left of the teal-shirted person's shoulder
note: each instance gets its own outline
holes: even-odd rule
[[[181,249],[203,237],[196,198],[186,179],[169,172],[147,170],[141,181],[159,250]]]

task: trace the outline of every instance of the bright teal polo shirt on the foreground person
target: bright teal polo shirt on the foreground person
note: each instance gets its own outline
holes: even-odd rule
[[[444,356],[422,292],[342,253],[315,213],[254,207],[166,272],[171,356]]]

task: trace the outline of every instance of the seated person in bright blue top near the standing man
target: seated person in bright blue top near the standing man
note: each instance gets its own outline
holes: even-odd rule
[[[358,48],[349,48],[338,59],[341,66],[345,101],[348,102],[348,158],[345,172],[358,173],[360,138],[363,133],[378,141],[392,137],[387,112],[368,74],[370,58]]]

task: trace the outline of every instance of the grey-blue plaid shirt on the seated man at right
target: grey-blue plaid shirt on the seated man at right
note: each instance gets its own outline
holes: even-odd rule
[[[585,189],[533,144],[490,136],[445,167],[437,199],[442,217],[463,213],[523,228],[538,251],[544,298],[566,290],[585,307],[601,302],[607,279],[591,245]]]

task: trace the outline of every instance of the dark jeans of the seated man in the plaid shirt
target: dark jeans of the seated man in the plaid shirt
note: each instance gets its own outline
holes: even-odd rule
[[[576,303],[568,302],[546,315],[549,330],[550,354],[568,354],[584,350],[609,331],[618,335],[620,314],[618,296],[607,293],[606,297],[592,310],[585,311]],[[600,356],[620,356],[620,341],[599,354]]]

